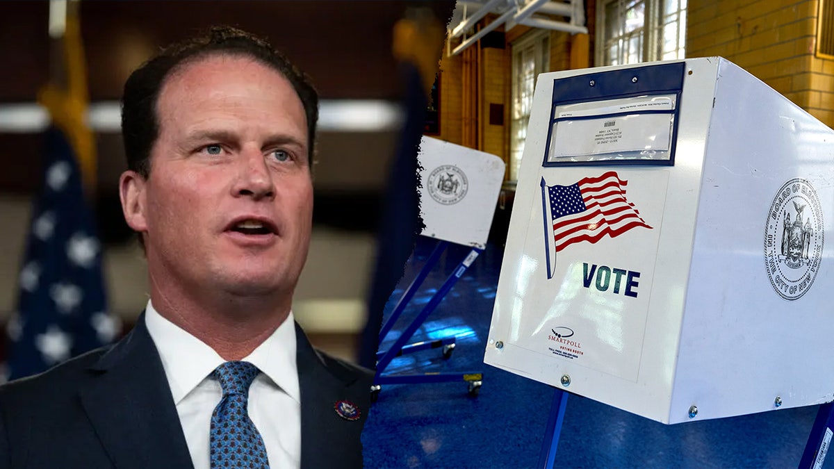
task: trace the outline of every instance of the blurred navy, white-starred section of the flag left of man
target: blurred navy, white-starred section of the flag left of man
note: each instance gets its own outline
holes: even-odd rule
[[[46,139],[43,190],[33,207],[0,382],[106,345],[121,330],[107,313],[101,247],[73,149],[54,127]]]

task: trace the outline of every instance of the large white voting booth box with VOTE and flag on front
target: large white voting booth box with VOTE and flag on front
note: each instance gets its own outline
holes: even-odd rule
[[[831,401],[832,221],[834,132],[736,65],[541,74],[485,362],[664,423]]]

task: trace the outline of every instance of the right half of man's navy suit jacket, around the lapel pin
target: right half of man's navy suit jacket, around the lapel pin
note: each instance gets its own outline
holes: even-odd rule
[[[360,435],[370,405],[372,376],[362,379],[313,349],[295,325],[301,388],[301,467],[361,467]],[[359,409],[350,421],[335,406],[345,401]],[[344,411],[342,413],[345,413]]]

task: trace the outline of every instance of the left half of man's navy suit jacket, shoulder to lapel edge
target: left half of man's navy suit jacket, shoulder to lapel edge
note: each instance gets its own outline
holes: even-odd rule
[[[191,467],[140,316],[109,349],[0,386],[0,468]]]

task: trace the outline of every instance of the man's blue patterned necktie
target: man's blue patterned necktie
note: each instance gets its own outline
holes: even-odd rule
[[[211,467],[269,469],[266,446],[249,419],[249,385],[258,368],[248,361],[227,361],[214,370],[223,388],[223,398],[211,416]]]

